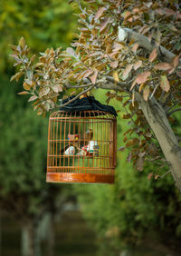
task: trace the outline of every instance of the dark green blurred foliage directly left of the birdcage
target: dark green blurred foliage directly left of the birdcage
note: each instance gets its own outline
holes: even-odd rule
[[[42,212],[37,206],[47,196],[43,191],[46,148],[43,138],[47,120],[37,120],[34,113],[21,107],[22,103],[15,103],[14,94],[7,88],[1,93],[4,112],[1,113],[0,203],[4,211],[13,210],[23,218]]]

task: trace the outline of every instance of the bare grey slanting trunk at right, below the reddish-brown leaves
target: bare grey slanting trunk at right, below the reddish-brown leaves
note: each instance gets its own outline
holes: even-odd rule
[[[136,94],[139,105],[157,137],[157,141],[166,157],[177,188],[181,191],[181,147],[167,121],[167,115],[155,98],[146,102],[141,94]]]

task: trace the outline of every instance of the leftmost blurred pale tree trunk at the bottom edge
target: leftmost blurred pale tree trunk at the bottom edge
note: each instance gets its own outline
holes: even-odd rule
[[[22,227],[22,256],[34,256],[33,222],[24,222]]]

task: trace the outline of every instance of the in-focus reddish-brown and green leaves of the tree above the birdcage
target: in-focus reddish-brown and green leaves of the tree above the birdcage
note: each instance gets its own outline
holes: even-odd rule
[[[143,170],[145,160],[157,162],[163,168],[167,161],[139,108],[137,93],[146,102],[153,97],[157,99],[169,121],[174,122],[169,115],[181,104],[178,1],[87,0],[84,2],[89,5],[84,8],[76,2],[80,7],[80,33],[72,47],[66,51],[47,49],[33,63],[34,57],[28,55],[22,38],[18,46],[12,46],[15,65],[19,66],[12,80],[18,81],[24,75],[24,92],[20,94],[30,94],[29,101],[35,101],[33,109],[43,115],[56,107],[63,90],[74,88],[71,94],[81,92],[81,95],[85,86],[89,91],[113,83],[114,91],[107,93],[107,103],[112,98],[123,103],[123,119],[128,119],[130,125],[124,133],[129,159],[139,171]],[[149,51],[133,39],[129,43],[120,40],[124,27],[129,28],[129,32],[124,31],[126,34],[134,29],[139,36],[146,35]]]

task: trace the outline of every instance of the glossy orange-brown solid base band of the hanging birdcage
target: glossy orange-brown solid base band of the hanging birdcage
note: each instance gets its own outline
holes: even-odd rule
[[[114,183],[113,174],[47,172],[46,182],[54,183]]]

